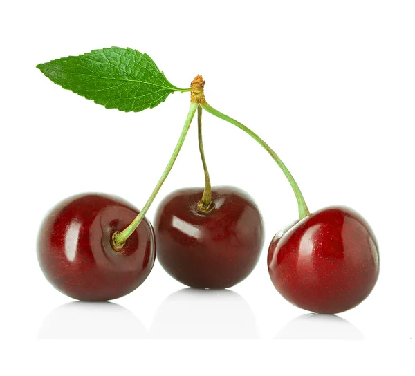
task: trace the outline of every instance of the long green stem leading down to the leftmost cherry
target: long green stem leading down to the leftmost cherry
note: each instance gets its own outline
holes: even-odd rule
[[[147,200],[147,203],[145,203],[144,207],[142,208],[140,214],[136,216],[136,218],[131,222],[131,224],[124,229],[122,232],[116,232],[113,235],[113,246],[116,249],[122,248],[122,245],[124,245],[125,241],[133,234],[134,231],[136,231],[136,228],[138,225],[140,225],[140,222],[142,221],[142,218],[144,218],[145,214],[147,213],[151,203],[153,203],[154,198],[156,198],[158,191],[160,190],[161,186],[163,185],[163,182],[165,182],[167,176],[169,175],[169,172],[172,170],[173,164],[176,161],[176,158],[178,156],[179,151],[181,150],[181,147],[183,146],[183,142],[185,141],[187,131],[189,131],[190,124],[192,123],[192,119],[194,117],[194,114],[196,113],[196,109],[198,107],[197,103],[190,103],[190,109],[189,113],[187,113],[187,118],[185,121],[185,125],[183,126],[182,133],[180,135],[180,138],[178,138],[178,142],[176,144],[176,147],[174,148],[172,157],[169,160],[169,163],[167,163],[167,167],[165,168],[165,171],[163,172],[163,175],[160,177],[160,180],[158,180],[158,183],[156,187],[154,188],[154,191],[151,193],[151,196]]]

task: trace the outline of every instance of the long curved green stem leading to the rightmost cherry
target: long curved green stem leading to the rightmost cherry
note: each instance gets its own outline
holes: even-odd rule
[[[222,120],[230,122],[230,124],[234,124],[238,128],[242,129],[242,131],[248,133],[248,135],[250,135],[255,141],[257,141],[261,145],[261,147],[263,147],[266,151],[268,151],[270,156],[273,157],[273,160],[277,162],[279,168],[282,169],[282,172],[284,172],[284,175],[286,176],[286,178],[288,179],[288,182],[290,182],[291,187],[293,188],[295,198],[297,198],[299,218],[302,219],[302,218],[306,218],[306,216],[309,216],[310,212],[308,211],[306,201],[304,200],[304,197],[301,191],[299,190],[297,182],[295,182],[290,171],[288,171],[285,164],[282,162],[282,160],[279,159],[275,151],[273,151],[273,149],[271,149],[269,145],[259,137],[259,135],[251,131],[247,126],[243,125],[237,120],[230,118],[228,115],[225,115],[224,113],[221,113],[220,111],[214,109],[208,104],[208,102],[201,103],[201,106],[203,109],[205,109],[209,113],[212,113],[212,115],[215,115],[218,118],[221,118]]]

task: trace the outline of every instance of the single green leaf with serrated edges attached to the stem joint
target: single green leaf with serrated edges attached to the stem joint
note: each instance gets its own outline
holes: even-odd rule
[[[152,109],[174,91],[190,91],[170,84],[147,54],[131,48],[103,48],[63,57],[37,68],[55,84],[107,109]]]

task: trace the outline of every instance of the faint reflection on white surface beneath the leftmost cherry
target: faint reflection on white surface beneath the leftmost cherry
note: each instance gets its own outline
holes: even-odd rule
[[[137,339],[147,330],[127,308],[109,302],[73,301],[44,319],[39,339]]]

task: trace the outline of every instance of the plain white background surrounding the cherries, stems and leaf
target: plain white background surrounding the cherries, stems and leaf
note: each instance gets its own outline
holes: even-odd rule
[[[0,368],[12,365],[3,374],[413,372],[414,19],[414,2],[398,0],[3,3]],[[248,279],[224,292],[183,290],[156,261],[138,290],[112,304],[73,303],[52,288],[35,249],[47,210],[84,191],[142,207],[187,114],[188,93],[122,113],[35,68],[110,46],[148,53],[179,87],[202,74],[208,102],[277,151],[311,211],[347,205],[365,216],[381,262],[366,301],[336,318],[305,316],[279,296],[266,252],[297,218],[295,197],[259,145],[208,113],[212,184],[248,191],[266,223]],[[113,179],[118,169],[124,176]],[[201,185],[194,122],[148,218],[170,191]],[[261,341],[108,341],[251,337]]]

